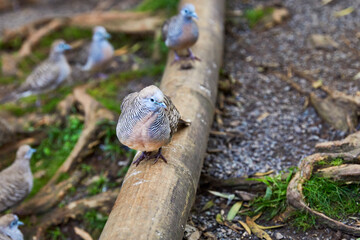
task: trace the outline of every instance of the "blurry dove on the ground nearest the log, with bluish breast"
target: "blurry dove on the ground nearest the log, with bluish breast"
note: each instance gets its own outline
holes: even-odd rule
[[[114,55],[114,48],[107,39],[110,38],[110,34],[106,32],[106,29],[101,26],[94,28],[94,35],[89,48],[89,55],[86,64],[82,67],[82,70],[88,71],[93,66],[101,64]]]

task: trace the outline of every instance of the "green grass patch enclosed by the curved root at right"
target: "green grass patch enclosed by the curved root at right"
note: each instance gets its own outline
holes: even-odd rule
[[[313,176],[303,192],[309,206],[325,215],[343,220],[360,213],[360,184],[345,184]]]

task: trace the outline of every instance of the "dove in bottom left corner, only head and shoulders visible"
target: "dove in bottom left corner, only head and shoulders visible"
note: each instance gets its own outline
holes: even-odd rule
[[[18,228],[20,225],[24,223],[14,214],[0,217],[0,240],[23,240],[23,234]]]

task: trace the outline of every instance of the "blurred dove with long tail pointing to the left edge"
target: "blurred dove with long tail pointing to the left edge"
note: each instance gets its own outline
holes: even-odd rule
[[[71,47],[65,41],[54,41],[49,57],[34,69],[17,90],[1,99],[0,104],[48,92],[59,86],[71,73],[64,56],[64,51],[68,49]]]

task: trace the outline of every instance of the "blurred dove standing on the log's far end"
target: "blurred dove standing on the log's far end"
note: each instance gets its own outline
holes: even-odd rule
[[[165,44],[175,53],[172,64],[181,60],[178,51],[182,49],[187,49],[191,60],[200,61],[190,49],[199,38],[199,29],[193,18],[198,19],[194,5],[185,4],[180,13],[167,20],[162,27]]]

